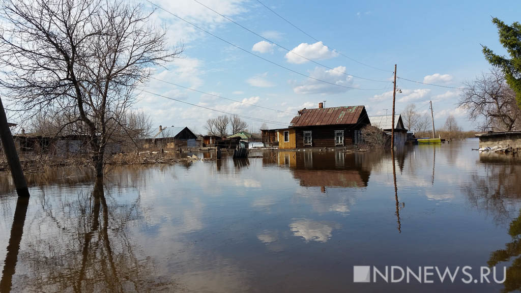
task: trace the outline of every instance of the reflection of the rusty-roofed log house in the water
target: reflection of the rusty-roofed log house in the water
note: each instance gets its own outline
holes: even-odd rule
[[[365,153],[340,151],[279,151],[265,155],[263,164],[291,169],[293,177],[305,187],[367,187],[370,168],[364,166]]]

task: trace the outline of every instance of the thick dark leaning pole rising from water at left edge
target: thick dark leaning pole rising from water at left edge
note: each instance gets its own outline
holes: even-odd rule
[[[11,169],[11,176],[15,182],[16,192],[19,197],[29,197],[29,189],[27,189],[26,177],[23,176],[22,165],[20,164],[20,158],[16,152],[15,142],[13,141],[13,135],[7,124],[7,117],[5,115],[4,105],[0,98],[0,139],[4,145],[5,156],[7,158],[7,164]]]

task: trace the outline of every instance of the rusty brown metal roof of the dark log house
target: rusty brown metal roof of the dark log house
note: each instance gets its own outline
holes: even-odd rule
[[[316,125],[338,125],[356,124],[364,106],[346,106],[333,108],[303,109],[300,116],[295,116],[291,123],[293,127],[316,126]]]

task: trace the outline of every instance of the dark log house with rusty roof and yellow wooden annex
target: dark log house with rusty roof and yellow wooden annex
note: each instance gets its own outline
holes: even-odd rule
[[[281,129],[279,149],[334,148],[362,142],[361,129],[370,124],[365,106],[302,109]]]

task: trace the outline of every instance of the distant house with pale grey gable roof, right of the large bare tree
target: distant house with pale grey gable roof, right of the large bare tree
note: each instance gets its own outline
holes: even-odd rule
[[[146,138],[143,148],[189,149],[197,148],[197,136],[185,126],[159,126],[159,132]]]

